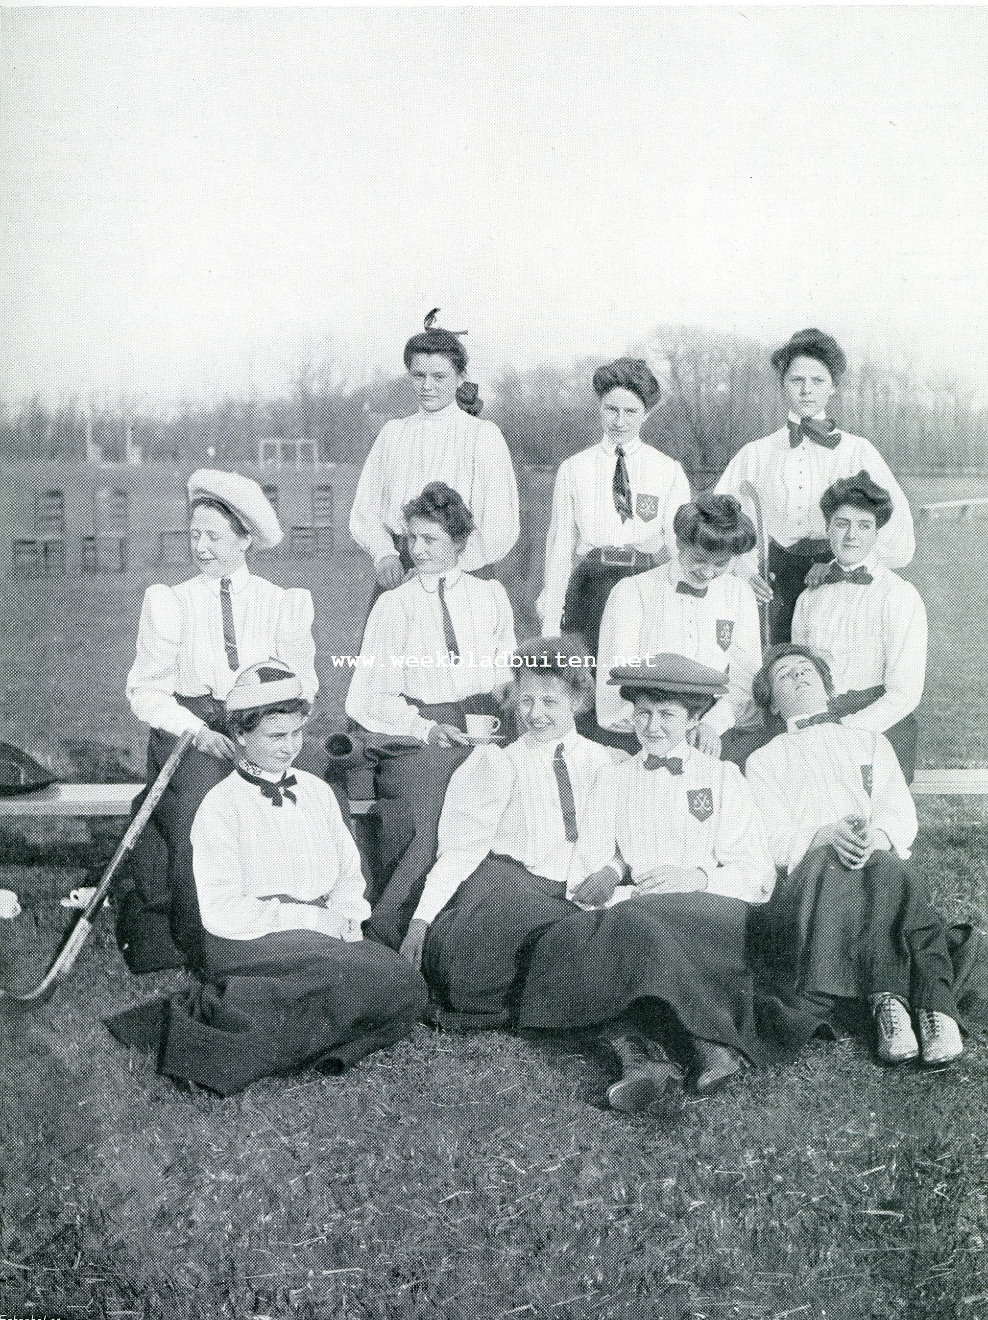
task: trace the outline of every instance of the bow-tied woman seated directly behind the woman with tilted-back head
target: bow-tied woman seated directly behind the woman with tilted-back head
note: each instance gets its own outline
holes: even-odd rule
[[[793,642],[823,656],[846,729],[885,734],[906,783],[915,774],[917,722],[926,681],[926,607],[911,582],[879,562],[875,545],[892,496],[864,470],[823,492],[832,561],[795,602]]]

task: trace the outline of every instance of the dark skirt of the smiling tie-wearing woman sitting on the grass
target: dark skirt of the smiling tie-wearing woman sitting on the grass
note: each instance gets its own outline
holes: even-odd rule
[[[579,908],[566,886],[491,854],[429,928],[422,974],[443,1008],[492,1016],[513,1011],[546,931]]]

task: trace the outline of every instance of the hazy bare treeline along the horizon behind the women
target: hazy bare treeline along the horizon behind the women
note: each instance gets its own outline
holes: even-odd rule
[[[678,458],[699,484],[785,416],[768,348],[753,339],[662,326],[632,351],[648,359],[662,384],[645,438]],[[555,466],[592,444],[596,366],[586,358],[567,367],[505,368],[487,387],[483,416],[500,425],[518,463]],[[973,389],[872,359],[852,368],[831,411],[847,430],[873,440],[894,469],[955,471],[988,462],[988,414],[975,405]],[[88,432],[109,461],[123,461],[129,436],[145,462],[256,462],[265,437],[317,440],[323,461],[359,462],[381,425],[410,411],[402,378],[347,385],[335,364],[303,363],[280,397],[227,397],[168,416],[78,400],[51,408],[37,397],[16,409],[0,407],[0,458],[83,459]]]

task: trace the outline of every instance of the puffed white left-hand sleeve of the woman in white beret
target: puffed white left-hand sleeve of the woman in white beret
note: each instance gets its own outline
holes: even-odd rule
[[[156,583],[144,593],[137,626],[137,653],[127,676],[127,700],[142,723],[175,738],[194,733],[203,721],[175,701],[178,651],[182,644],[182,606],[170,586]]]

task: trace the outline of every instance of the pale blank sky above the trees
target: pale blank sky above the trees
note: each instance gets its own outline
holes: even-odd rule
[[[983,8],[5,8],[0,399],[818,325],[988,400]]]

